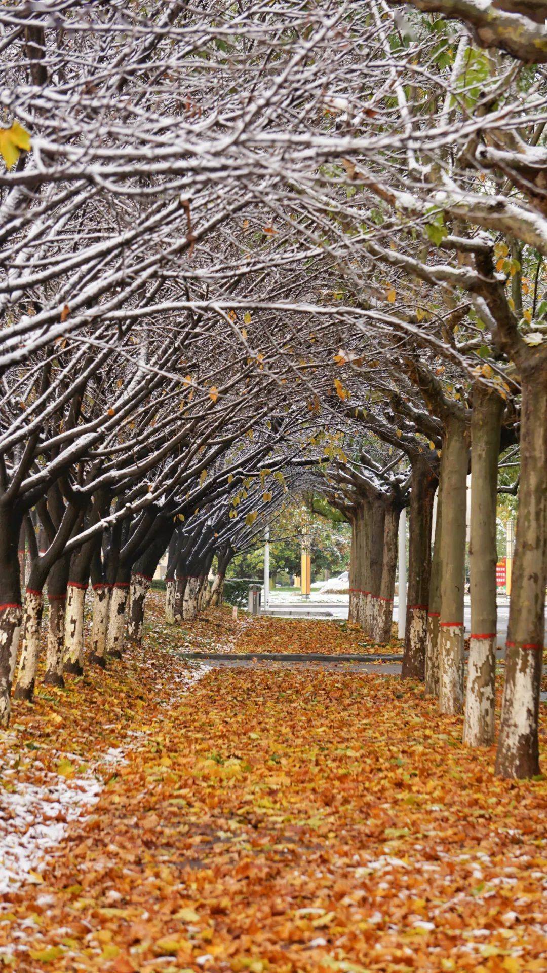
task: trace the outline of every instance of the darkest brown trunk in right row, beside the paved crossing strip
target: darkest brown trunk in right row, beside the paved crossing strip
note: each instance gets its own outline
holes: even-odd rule
[[[426,459],[412,461],[408,543],[408,598],[401,679],[426,678],[431,523],[437,477]]]

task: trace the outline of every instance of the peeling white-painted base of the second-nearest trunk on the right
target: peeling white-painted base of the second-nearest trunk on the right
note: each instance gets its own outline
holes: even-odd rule
[[[463,742],[490,746],[495,737],[496,635],[471,638],[465,688]]]

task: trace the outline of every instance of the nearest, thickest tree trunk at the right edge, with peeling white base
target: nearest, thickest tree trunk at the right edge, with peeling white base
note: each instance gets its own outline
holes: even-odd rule
[[[521,483],[496,774],[539,773],[547,556],[547,360],[521,369]]]

